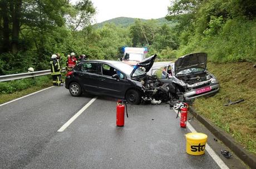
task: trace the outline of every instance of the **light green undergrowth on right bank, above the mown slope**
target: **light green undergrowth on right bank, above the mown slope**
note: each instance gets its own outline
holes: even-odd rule
[[[221,18],[213,21],[212,27],[203,35],[189,35],[189,42],[180,45],[178,57],[206,52],[212,62],[256,62],[256,19],[229,19],[223,24],[220,24]]]

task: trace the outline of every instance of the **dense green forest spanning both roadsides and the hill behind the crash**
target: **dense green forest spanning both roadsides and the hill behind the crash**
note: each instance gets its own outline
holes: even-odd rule
[[[173,0],[165,19],[175,24],[135,19],[100,27],[90,0],[0,0],[0,7],[0,75],[49,69],[53,53],[116,60],[123,46],[160,58],[206,52],[212,62],[256,61],[254,0]]]

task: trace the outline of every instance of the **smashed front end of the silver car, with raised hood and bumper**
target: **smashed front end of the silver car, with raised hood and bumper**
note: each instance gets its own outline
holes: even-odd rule
[[[187,84],[186,101],[199,96],[214,95],[219,91],[219,81],[206,70],[207,54],[192,53],[180,57],[174,65],[176,78]]]

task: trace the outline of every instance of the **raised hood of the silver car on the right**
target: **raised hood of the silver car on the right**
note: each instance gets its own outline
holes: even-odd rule
[[[206,70],[206,62],[206,53],[191,53],[184,55],[175,62],[175,74],[177,74],[181,70],[189,68],[203,68],[204,70]]]

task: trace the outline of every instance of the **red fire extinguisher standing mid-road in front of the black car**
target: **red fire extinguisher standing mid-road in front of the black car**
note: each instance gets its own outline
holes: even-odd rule
[[[124,101],[118,100],[116,104],[116,126],[122,127],[125,125],[125,106],[126,106],[126,116],[127,113],[127,105]]]

